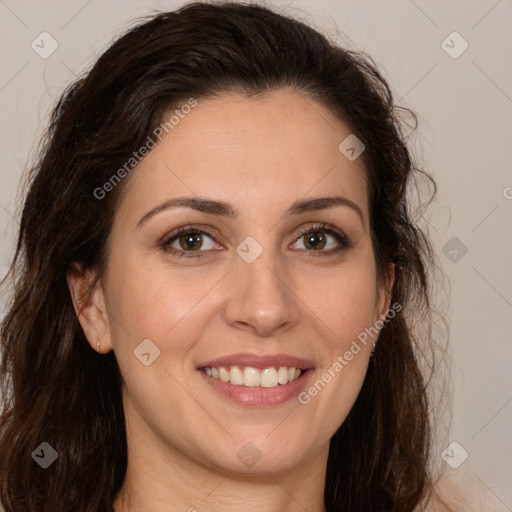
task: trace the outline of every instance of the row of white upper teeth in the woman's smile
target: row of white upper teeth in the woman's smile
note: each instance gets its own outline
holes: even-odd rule
[[[274,388],[277,385],[287,384],[301,375],[300,368],[280,366],[278,369],[273,366],[259,370],[251,366],[240,368],[231,366],[229,369],[224,366],[206,367],[206,375],[222,382],[231,382],[235,386]]]

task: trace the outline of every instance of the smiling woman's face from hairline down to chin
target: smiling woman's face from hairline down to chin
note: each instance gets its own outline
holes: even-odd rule
[[[226,94],[129,177],[80,320],[114,351],[129,430],[155,456],[240,473],[326,456],[376,341],[358,336],[391,285],[377,285],[362,160],[338,149],[349,134],[291,91]],[[338,200],[314,202],[326,197]]]

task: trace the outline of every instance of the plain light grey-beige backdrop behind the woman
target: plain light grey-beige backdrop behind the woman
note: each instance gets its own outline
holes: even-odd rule
[[[14,248],[20,179],[64,86],[129,21],[183,4],[0,0],[2,275]],[[511,511],[512,1],[297,0],[267,5],[367,52],[398,103],[418,114],[413,150],[439,187],[427,218],[451,294],[445,312],[454,398],[447,442],[458,443],[451,447],[455,459],[467,452],[457,469],[448,470],[463,472],[485,494],[489,510]],[[43,32],[58,44],[47,58],[31,46],[48,37]]]

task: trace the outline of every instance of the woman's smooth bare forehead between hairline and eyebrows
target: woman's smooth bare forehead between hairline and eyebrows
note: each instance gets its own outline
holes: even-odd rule
[[[290,90],[201,99],[139,164],[122,203],[133,210],[197,194],[262,215],[262,201],[287,206],[340,194],[367,218],[362,159],[338,148],[350,133],[326,107]]]

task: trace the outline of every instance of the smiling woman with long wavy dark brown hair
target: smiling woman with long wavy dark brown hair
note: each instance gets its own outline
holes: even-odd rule
[[[415,177],[371,59],[297,20],[194,3],[114,42],[24,204],[5,510],[450,510]]]

